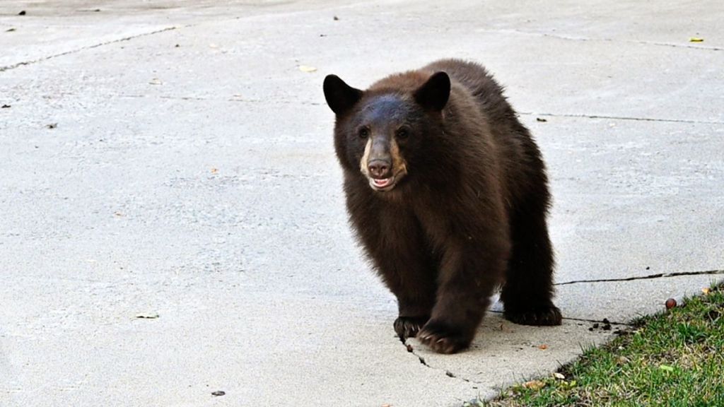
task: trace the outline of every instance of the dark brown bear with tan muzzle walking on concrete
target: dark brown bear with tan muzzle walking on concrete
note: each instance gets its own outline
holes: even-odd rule
[[[442,59],[366,91],[328,75],[323,90],[350,225],[397,297],[400,340],[468,348],[495,290],[511,322],[561,324],[546,167],[482,65]]]

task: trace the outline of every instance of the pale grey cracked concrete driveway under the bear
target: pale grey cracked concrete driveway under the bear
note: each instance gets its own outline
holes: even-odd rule
[[[0,406],[460,406],[552,372],[722,278],[722,20],[717,0],[2,1]],[[447,56],[485,64],[539,141],[566,319],[495,306],[439,356],[397,340],[353,241],[321,81]]]

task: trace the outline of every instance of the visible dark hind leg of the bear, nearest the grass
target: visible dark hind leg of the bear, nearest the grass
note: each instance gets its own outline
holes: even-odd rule
[[[547,200],[515,211],[510,224],[513,251],[500,300],[504,316],[516,324],[560,325],[553,304],[553,251],[546,225]]]

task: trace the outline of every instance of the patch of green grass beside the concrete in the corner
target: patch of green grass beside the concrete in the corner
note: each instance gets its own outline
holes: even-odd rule
[[[724,285],[637,319],[551,377],[466,406],[724,406]]]

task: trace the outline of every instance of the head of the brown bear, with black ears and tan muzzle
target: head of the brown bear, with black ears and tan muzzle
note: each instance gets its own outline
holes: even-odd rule
[[[336,114],[334,148],[348,174],[366,178],[380,192],[414,180],[439,143],[442,109],[450,98],[450,77],[408,72],[382,80],[367,91],[336,75],[324,78],[324,97]]]

